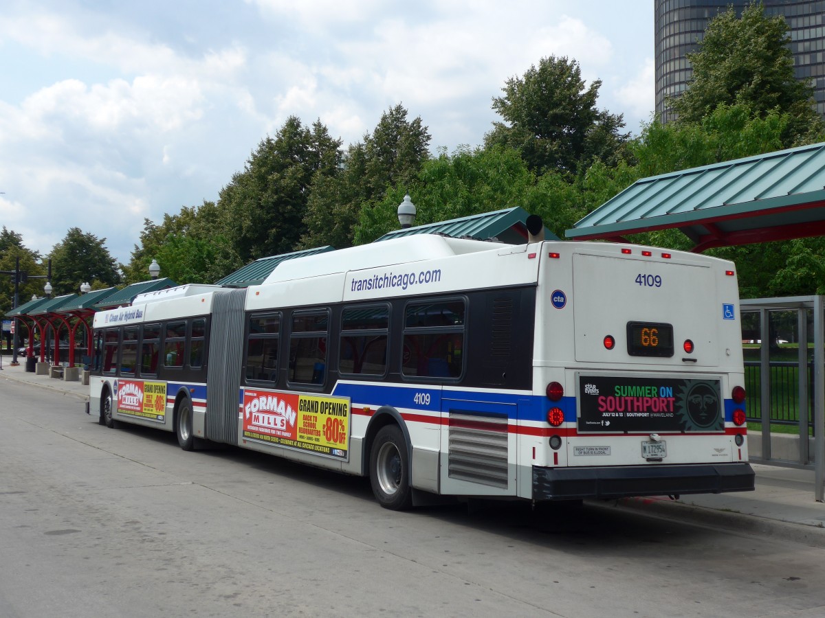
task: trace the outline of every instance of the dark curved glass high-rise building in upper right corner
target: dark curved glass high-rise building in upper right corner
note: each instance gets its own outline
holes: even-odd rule
[[[687,54],[698,49],[697,40],[719,12],[733,5],[737,16],[752,0],[655,0],[656,12],[656,115],[673,119],[667,98],[687,87],[693,70]],[[762,0],[767,16],[785,17],[790,28],[790,50],[799,80],[815,89],[817,111],[825,119],[825,1]]]

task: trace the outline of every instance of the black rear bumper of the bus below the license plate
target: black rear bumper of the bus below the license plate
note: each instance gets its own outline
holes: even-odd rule
[[[533,466],[534,500],[615,499],[753,491],[750,464],[541,468]]]

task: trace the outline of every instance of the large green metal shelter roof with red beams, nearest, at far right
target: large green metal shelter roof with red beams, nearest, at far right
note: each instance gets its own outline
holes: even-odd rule
[[[825,143],[637,180],[566,232],[576,240],[678,228],[694,251],[825,234]]]

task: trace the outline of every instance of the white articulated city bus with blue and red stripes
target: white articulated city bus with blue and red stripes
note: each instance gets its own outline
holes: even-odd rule
[[[408,236],[94,328],[101,424],[369,475],[386,508],[753,489],[736,274],[704,255]]]

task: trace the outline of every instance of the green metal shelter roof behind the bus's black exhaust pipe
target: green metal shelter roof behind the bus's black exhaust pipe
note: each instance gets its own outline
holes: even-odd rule
[[[481,241],[497,238],[499,241],[512,245],[521,245],[527,241],[525,222],[529,216],[530,213],[527,213],[524,208],[516,206],[515,208],[496,210],[492,213],[474,214],[469,217],[451,219],[450,221],[394,230],[393,232],[387,232],[376,242],[385,241],[389,238],[413,236],[414,234],[446,234],[455,238],[470,236]],[[559,236],[544,227],[544,239],[558,241]]]

